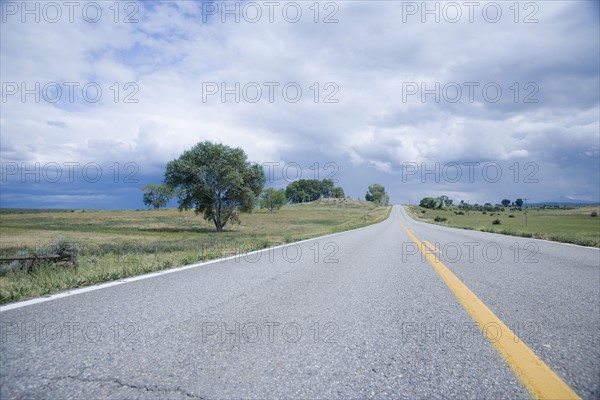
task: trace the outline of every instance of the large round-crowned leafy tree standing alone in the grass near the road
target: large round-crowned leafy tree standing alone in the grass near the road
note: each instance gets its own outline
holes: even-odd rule
[[[265,175],[244,150],[200,142],[167,164],[164,181],[177,190],[180,211],[202,213],[221,232],[240,213],[252,212]]]

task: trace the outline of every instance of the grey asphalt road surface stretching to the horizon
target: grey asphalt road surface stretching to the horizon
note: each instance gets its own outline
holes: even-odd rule
[[[412,238],[582,398],[600,397],[600,251],[367,228],[0,313],[0,397],[529,398]]]

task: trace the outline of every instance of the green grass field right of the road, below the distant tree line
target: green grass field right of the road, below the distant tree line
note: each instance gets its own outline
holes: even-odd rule
[[[504,212],[486,213],[463,211],[464,215],[457,214],[461,211],[458,207],[425,210],[409,206],[407,210],[413,218],[444,226],[600,247],[600,217],[590,216],[594,211],[600,214],[600,206],[567,209],[535,207],[522,211],[507,209]],[[446,218],[446,221],[435,222],[436,217]],[[499,220],[500,224],[493,224],[494,220]]]

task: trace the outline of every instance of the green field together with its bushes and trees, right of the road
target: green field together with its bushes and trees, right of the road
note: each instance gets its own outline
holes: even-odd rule
[[[415,219],[462,229],[600,247],[600,206],[524,207],[521,199],[492,205],[452,205],[446,196],[406,207]]]

